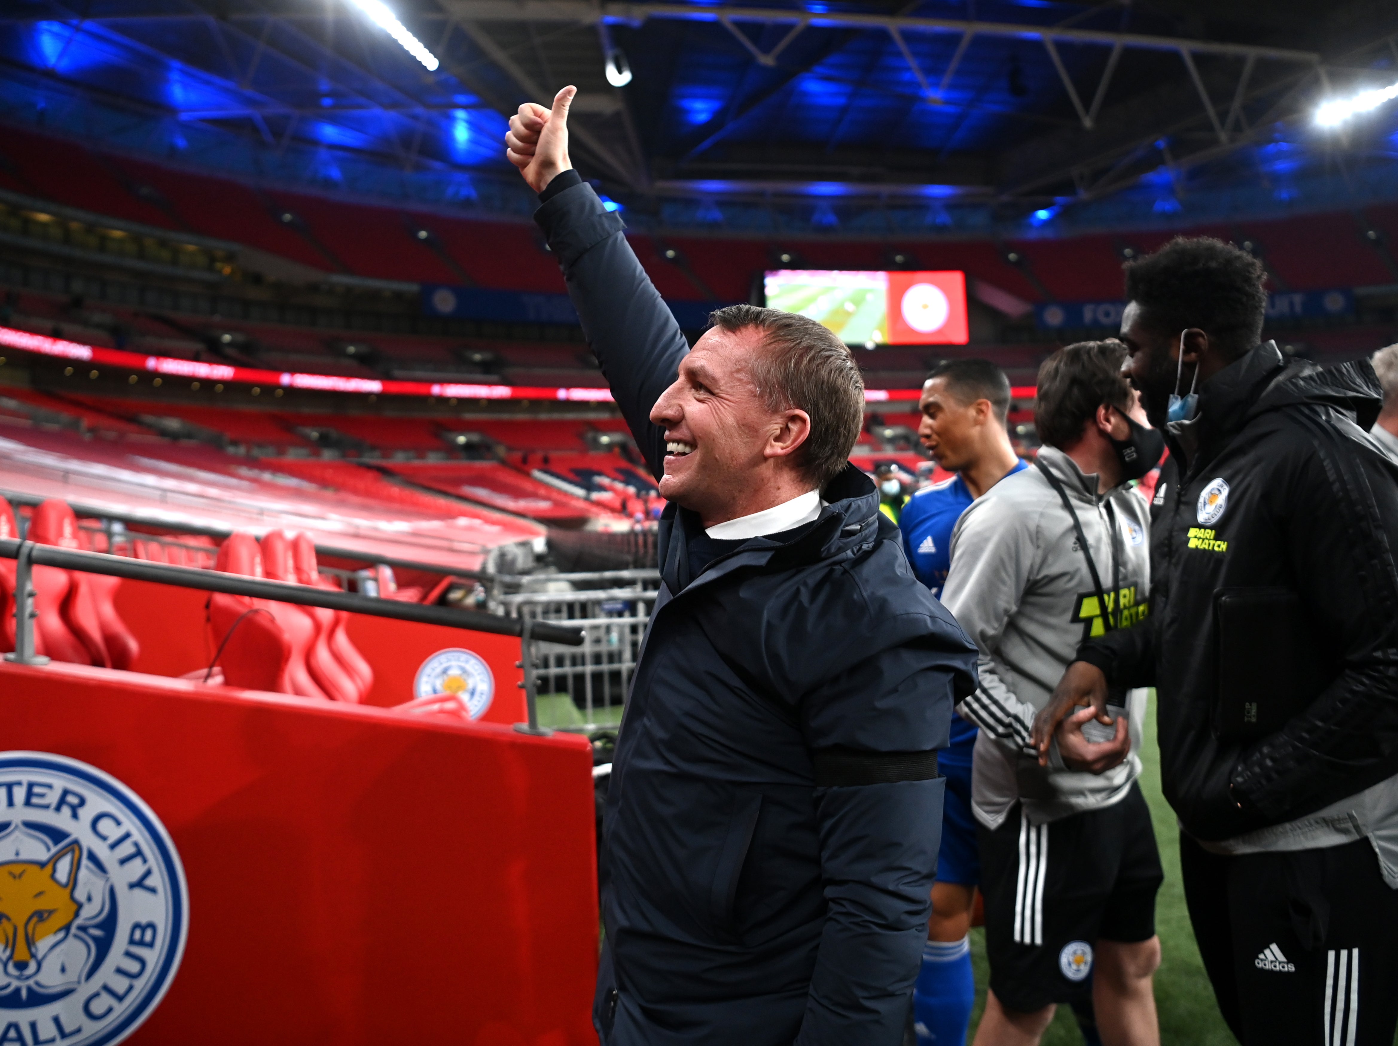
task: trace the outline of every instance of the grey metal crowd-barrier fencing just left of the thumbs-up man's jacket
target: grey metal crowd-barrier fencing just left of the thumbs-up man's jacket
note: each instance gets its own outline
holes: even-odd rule
[[[615,726],[625,706],[660,585],[654,571],[628,573],[640,575],[626,578],[628,587],[499,597],[510,618],[535,622],[535,629],[563,622],[582,629],[580,645],[538,645],[541,692],[572,698],[584,720],[576,729]]]

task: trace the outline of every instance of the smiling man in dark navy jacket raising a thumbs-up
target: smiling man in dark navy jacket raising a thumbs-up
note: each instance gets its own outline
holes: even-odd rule
[[[896,1046],[925,938],[952,705],[976,652],[849,453],[864,386],[801,316],[689,351],[572,172],[565,88],[509,158],[670,499],[605,814],[607,1046]]]

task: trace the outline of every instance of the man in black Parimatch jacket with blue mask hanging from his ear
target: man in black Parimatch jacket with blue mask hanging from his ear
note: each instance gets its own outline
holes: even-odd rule
[[[1177,239],[1127,266],[1121,337],[1170,460],[1151,628],[1083,643],[1035,723],[1155,685],[1190,919],[1253,1043],[1390,1046],[1398,1021],[1398,468],[1367,361],[1257,344],[1264,270]],[[1197,390],[1197,399],[1195,399]]]

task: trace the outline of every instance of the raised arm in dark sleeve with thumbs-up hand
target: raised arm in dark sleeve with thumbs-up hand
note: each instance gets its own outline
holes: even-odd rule
[[[603,207],[568,157],[568,108],[576,88],[565,87],[554,108],[526,103],[505,136],[509,159],[544,200],[535,211],[549,249],[563,270],[583,334],[601,364],[636,446],[658,480],[664,471],[664,429],[650,408],[674,383],[689,344],[626,242],[625,224]],[[565,179],[562,190],[555,179]]]

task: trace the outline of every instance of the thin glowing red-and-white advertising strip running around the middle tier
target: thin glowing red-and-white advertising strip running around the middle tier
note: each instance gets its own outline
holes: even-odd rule
[[[127,352],[120,348],[85,345],[81,341],[35,334],[15,327],[0,327],[0,347],[17,348],[24,352],[71,359],[81,364],[117,366],[126,371],[145,371],[152,375],[192,378],[203,382],[232,382],[239,385],[267,386],[271,389],[310,389],[315,392],[369,393],[384,396],[433,396],[463,400],[561,400],[568,403],[611,403],[611,389],[561,387],[530,385],[466,385],[446,382],[397,382],[377,378],[345,378],[344,375],[292,373],[289,371],[263,371],[231,364],[210,364],[203,359],[179,359],[176,357],[151,357],[143,352]],[[917,400],[920,389],[865,389],[864,399],[870,403]],[[1029,399],[1033,389],[1016,389],[1016,397]]]

